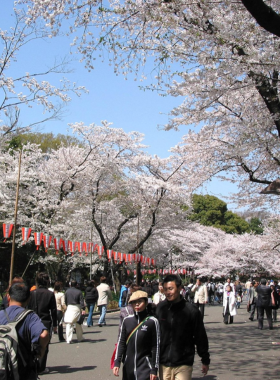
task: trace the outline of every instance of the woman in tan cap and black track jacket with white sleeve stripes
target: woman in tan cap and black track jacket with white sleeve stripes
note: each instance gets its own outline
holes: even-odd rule
[[[123,362],[123,380],[156,380],[159,366],[159,324],[147,311],[148,294],[138,290],[129,303],[134,314],[122,323],[113,373],[119,376]]]

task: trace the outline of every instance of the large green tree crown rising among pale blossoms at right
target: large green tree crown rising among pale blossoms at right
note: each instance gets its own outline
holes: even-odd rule
[[[228,211],[227,204],[212,195],[194,194],[192,198],[193,212],[189,219],[204,226],[220,228],[229,234],[250,232],[250,224],[239,215]]]

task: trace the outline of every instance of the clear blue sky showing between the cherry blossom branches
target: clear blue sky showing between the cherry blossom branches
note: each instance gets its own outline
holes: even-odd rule
[[[1,28],[7,28],[12,23],[12,19],[8,16],[11,3],[2,4]],[[7,12],[7,17],[3,17],[4,12]],[[168,121],[168,113],[173,107],[181,104],[183,98],[163,97],[156,92],[141,90],[139,86],[143,83],[135,80],[133,75],[127,80],[122,75],[115,75],[106,58],[104,62],[97,60],[95,69],[88,72],[83,63],[78,61],[79,57],[69,55],[69,45],[70,40],[66,37],[34,41],[20,51],[17,62],[11,66],[11,76],[21,75],[26,71],[30,73],[44,71],[55,60],[59,61],[67,56],[67,59],[72,59],[68,67],[72,72],[64,76],[78,85],[84,85],[89,91],[80,98],[71,96],[72,101],[64,109],[63,119],[45,123],[40,127],[40,131],[67,134],[69,123],[83,121],[86,125],[90,123],[99,125],[101,120],[107,120],[112,122],[115,128],[145,134],[143,143],[149,145],[150,154],[157,154],[159,157],[168,156],[168,150],[188,131],[187,126],[182,126],[180,131],[163,130],[163,125]],[[153,79],[151,69],[146,69],[147,85]],[[50,76],[45,79],[55,84],[60,77],[61,75]],[[21,111],[23,125],[41,117],[42,110],[36,106],[26,107]],[[201,189],[201,193],[224,198],[233,189],[233,186],[225,182],[213,180]]]

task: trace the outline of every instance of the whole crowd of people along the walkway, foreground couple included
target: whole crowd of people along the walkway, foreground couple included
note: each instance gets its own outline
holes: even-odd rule
[[[106,326],[111,290],[106,277],[99,285],[87,282],[84,294],[76,281],[64,292],[57,281],[50,286],[49,276],[38,273],[36,286],[29,289],[22,278],[15,278],[2,300],[0,325],[19,321],[19,380],[35,380],[48,373],[47,357],[52,334],[60,342],[71,344],[74,332],[82,342],[83,325],[93,326],[93,312],[99,310],[99,327]],[[202,373],[209,370],[210,354],[204,328],[205,306],[223,306],[223,322],[232,324],[241,302],[247,305],[249,320],[258,320],[263,329],[266,313],[269,329],[277,320],[280,283],[248,280],[245,284],[211,280],[182,284],[180,276],[167,275],[162,282],[144,281],[140,285],[126,281],[119,297],[120,323],[116,349],[112,357],[115,376],[123,363],[123,380],[190,380],[195,351],[201,357]],[[26,315],[24,311],[29,310]],[[86,310],[88,315],[86,316]],[[63,326],[65,326],[65,337]]]

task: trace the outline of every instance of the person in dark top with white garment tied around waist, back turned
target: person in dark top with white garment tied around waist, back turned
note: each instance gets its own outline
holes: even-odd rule
[[[71,287],[65,292],[65,303],[67,306],[64,323],[66,324],[66,342],[72,343],[74,323],[76,323],[76,334],[78,342],[83,341],[83,327],[78,323],[81,315],[85,314],[85,303],[83,293],[77,289],[77,281],[71,281]]]

